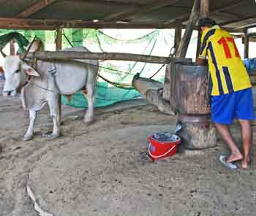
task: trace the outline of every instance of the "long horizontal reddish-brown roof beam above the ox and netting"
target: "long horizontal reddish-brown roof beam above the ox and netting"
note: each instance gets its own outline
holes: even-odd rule
[[[57,28],[176,28],[180,23],[105,23],[84,20],[53,20],[29,18],[0,18],[0,28],[6,29],[45,29]]]

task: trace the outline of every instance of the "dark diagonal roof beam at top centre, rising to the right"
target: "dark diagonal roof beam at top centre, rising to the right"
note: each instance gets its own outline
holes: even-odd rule
[[[153,1],[153,4],[146,5],[144,7],[137,7],[132,9],[127,9],[124,12],[118,12],[116,14],[110,15],[105,18],[105,21],[122,21],[122,20],[129,20],[132,18],[136,18],[137,16],[144,15],[146,12],[151,12],[154,9],[159,9],[160,7],[165,7],[167,5],[171,5],[176,3],[178,0],[157,0]]]

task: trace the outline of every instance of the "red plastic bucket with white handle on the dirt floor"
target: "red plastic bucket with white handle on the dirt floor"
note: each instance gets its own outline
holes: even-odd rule
[[[181,138],[175,134],[172,134],[172,136],[174,136],[176,140],[171,142],[160,141],[154,137],[154,134],[148,137],[148,154],[152,160],[166,158],[176,154],[178,144],[181,143]]]

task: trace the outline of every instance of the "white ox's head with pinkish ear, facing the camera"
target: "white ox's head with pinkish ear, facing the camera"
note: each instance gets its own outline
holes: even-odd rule
[[[18,55],[10,55],[4,61],[4,96],[15,96],[18,88],[29,76],[39,77],[39,74],[29,64],[24,62]]]

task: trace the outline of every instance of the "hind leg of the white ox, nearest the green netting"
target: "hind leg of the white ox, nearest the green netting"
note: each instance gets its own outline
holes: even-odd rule
[[[83,121],[84,123],[90,123],[94,118],[94,86],[89,85],[86,90],[82,90],[82,93],[88,102],[88,109]]]

